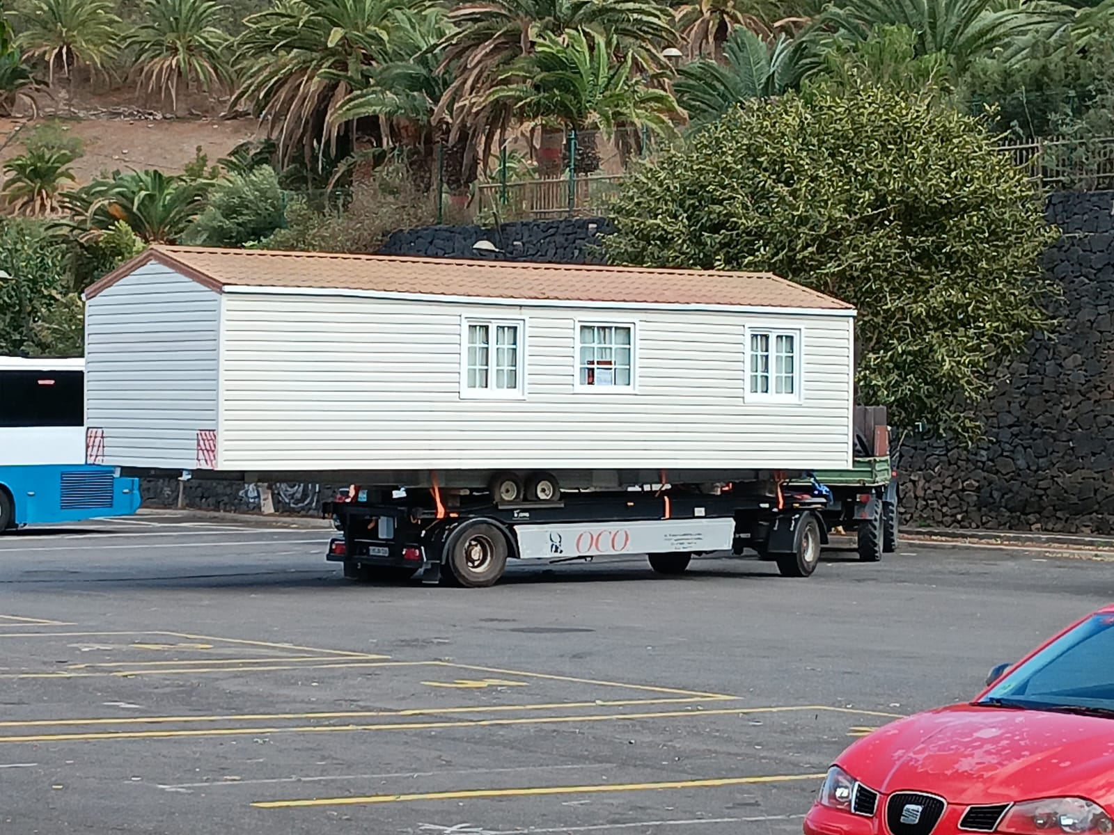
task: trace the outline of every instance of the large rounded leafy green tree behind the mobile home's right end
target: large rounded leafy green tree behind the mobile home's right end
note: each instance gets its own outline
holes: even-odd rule
[[[928,96],[823,89],[736,109],[612,208],[615,263],[771,271],[858,308],[858,402],[970,434],[961,407],[1045,323],[1039,199]]]

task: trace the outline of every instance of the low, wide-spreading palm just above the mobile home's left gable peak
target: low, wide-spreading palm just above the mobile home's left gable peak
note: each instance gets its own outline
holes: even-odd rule
[[[123,220],[148,244],[174,244],[201,214],[212,185],[158,170],[114,171],[61,195],[60,203],[86,233],[99,234]]]

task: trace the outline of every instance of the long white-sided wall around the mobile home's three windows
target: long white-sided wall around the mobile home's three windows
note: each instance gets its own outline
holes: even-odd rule
[[[846,315],[616,310],[634,320],[627,326],[634,325],[637,390],[612,386],[609,396],[587,397],[577,394],[580,326],[622,325],[622,317],[574,303],[516,307],[232,289],[222,296],[224,469],[850,465]],[[467,323],[511,320],[524,323],[525,395],[461,396]],[[801,334],[801,402],[749,400],[749,328]],[[490,354],[489,363],[495,369]]]

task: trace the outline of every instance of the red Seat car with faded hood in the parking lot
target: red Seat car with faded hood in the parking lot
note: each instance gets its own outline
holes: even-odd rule
[[[974,701],[899,719],[829,769],[805,835],[1105,835],[1114,831],[1114,606]]]

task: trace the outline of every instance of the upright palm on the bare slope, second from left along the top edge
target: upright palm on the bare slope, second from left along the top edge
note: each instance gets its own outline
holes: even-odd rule
[[[209,92],[231,82],[221,29],[221,6],[214,0],[144,0],[147,21],[125,39],[135,50],[138,85],[170,98],[178,109],[178,89]]]

